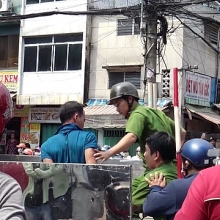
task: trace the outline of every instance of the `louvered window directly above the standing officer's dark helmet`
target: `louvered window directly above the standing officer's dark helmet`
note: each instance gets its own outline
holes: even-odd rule
[[[130,82],[134,84],[137,89],[141,88],[141,73],[140,72],[109,72],[109,89],[116,83]]]

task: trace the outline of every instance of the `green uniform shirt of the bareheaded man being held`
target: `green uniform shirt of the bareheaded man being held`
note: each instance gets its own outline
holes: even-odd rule
[[[150,179],[150,174],[154,175],[155,172],[162,172],[164,174],[166,178],[166,184],[177,178],[176,166],[172,162],[170,162],[161,164],[159,167],[153,170],[146,171],[144,175],[141,175],[139,178],[134,179],[132,182],[132,204],[140,207],[140,212],[142,212],[142,206],[144,204],[146,196],[150,192],[149,185],[146,182],[145,178]]]

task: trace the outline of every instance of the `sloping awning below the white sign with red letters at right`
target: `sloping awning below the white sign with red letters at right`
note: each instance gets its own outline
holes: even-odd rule
[[[220,115],[213,112],[210,108],[195,107],[191,105],[185,105],[185,107],[190,118],[192,118],[192,115],[190,115],[192,113],[216,125],[220,125]]]

